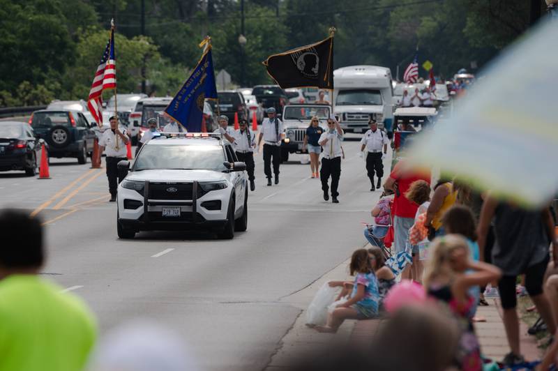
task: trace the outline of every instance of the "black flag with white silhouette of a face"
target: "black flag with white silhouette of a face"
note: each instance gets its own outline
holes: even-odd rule
[[[283,89],[333,89],[333,35],[319,43],[273,54],[263,63]]]

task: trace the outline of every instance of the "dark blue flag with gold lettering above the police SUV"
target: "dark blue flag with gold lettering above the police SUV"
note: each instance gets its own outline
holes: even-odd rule
[[[205,100],[206,98],[217,99],[211,44],[208,38],[200,44],[200,47],[203,45],[206,45],[206,48],[202,59],[199,60],[172,102],[165,108],[165,113],[174,121],[181,123],[188,132],[202,130]]]

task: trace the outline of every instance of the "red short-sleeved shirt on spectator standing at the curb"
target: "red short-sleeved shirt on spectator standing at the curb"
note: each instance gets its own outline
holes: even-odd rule
[[[414,202],[410,202],[407,197],[405,197],[405,192],[409,190],[411,184],[414,181],[426,181],[430,184],[430,172],[415,172],[412,169],[403,170],[403,162],[400,161],[393,167],[393,171],[389,174],[389,177],[398,185],[399,195],[395,193],[395,198],[393,199],[393,215],[400,218],[414,218],[416,211],[418,210],[418,205]]]

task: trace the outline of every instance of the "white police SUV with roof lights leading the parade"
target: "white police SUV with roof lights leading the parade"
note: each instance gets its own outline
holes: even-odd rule
[[[220,134],[163,133],[142,146],[118,187],[121,239],[142,230],[210,230],[221,239],[248,225],[246,164]]]

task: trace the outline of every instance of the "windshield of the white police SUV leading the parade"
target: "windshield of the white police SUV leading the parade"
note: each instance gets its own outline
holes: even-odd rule
[[[223,147],[218,145],[153,144],[142,148],[134,169],[204,169],[222,172],[226,169],[223,165],[225,160]]]

